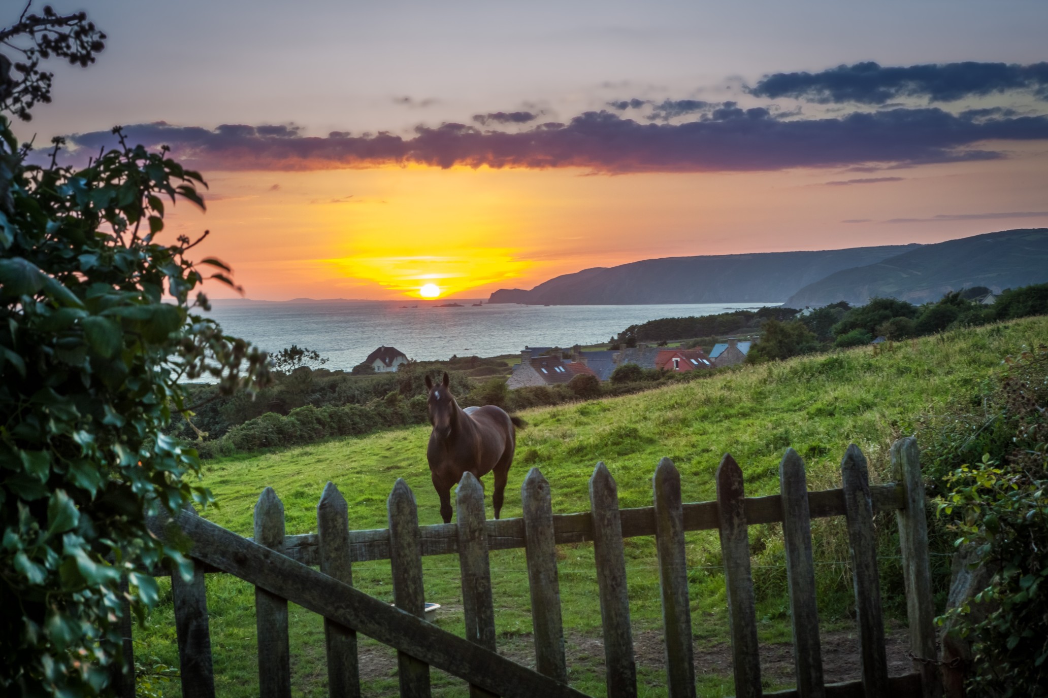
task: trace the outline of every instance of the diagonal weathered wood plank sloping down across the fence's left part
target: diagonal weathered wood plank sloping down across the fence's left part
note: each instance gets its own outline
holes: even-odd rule
[[[493,693],[507,698],[585,698],[548,676],[202,518],[179,515],[172,525],[194,542],[195,559]],[[151,522],[150,527],[157,536],[173,539],[162,524]]]

